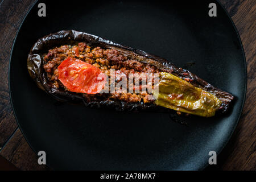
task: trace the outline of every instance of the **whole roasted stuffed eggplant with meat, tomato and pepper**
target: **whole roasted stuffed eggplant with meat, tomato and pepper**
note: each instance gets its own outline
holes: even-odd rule
[[[27,68],[39,88],[56,100],[83,102],[88,107],[132,111],[172,109],[212,117],[216,111],[225,113],[234,100],[232,94],[170,61],[74,30],[38,39],[28,55]],[[152,77],[154,74],[157,77]],[[114,80],[108,81],[112,75]],[[143,90],[143,85],[134,85],[135,81],[122,84],[121,90],[116,87],[111,90],[112,85],[117,86],[130,75],[139,76],[140,84],[144,75],[144,86],[152,88],[152,92]],[[152,80],[148,81],[150,76]],[[126,86],[132,92],[127,92]],[[139,92],[135,92],[136,88]]]

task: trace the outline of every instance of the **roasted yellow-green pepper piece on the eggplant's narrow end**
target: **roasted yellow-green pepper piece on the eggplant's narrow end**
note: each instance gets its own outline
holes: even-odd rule
[[[221,105],[213,94],[166,72],[160,72],[159,91],[154,96],[156,105],[203,117],[212,117]]]

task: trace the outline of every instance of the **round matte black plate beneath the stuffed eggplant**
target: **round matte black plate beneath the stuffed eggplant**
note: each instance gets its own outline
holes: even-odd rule
[[[41,2],[41,1],[40,1]],[[22,23],[10,61],[10,96],[16,120],[35,152],[47,153],[53,169],[203,169],[208,152],[219,153],[240,118],[246,63],[232,20],[211,1],[46,2]],[[198,2],[198,1],[196,1]],[[37,88],[27,72],[36,39],[59,30],[101,36],[171,60],[236,96],[222,117],[188,117],[188,126],[163,113],[127,113],[62,104]]]

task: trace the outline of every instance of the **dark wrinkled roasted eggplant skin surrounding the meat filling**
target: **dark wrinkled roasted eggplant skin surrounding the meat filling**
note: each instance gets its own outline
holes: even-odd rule
[[[156,106],[155,104],[144,104],[143,102],[133,103],[123,101],[110,101],[104,98],[98,100],[95,99],[92,101],[86,99],[82,96],[82,94],[79,93],[51,88],[51,86],[47,82],[46,72],[43,69],[43,54],[48,52],[48,50],[51,48],[63,46],[64,44],[75,44],[77,42],[85,42],[92,47],[99,46],[104,49],[116,49],[124,56],[129,57],[129,59],[135,59],[141,61],[142,63],[154,65],[159,69],[159,71],[172,73],[173,75],[182,79],[190,78],[192,85],[201,88],[209,93],[212,93],[222,102],[220,108],[218,109],[218,113],[225,113],[228,110],[232,101],[234,100],[234,96],[232,96],[232,94],[215,88],[213,85],[210,85],[208,82],[197,77],[195,74],[189,72],[188,70],[177,68],[174,64],[170,63],[170,61],[138,49],[122,46],[110,40],[102,39],[98,36],[75,30],[63,30],[38,39],[34,46],[32,46],[30,53],[28,54],[28,73],[40,89],[46,91],[56,100],[64,102],[82,101],[88,107],[113,107],[115,110],[170,110],[160,106]],[[183,73],[185,73],[185,75],[183,75]]]

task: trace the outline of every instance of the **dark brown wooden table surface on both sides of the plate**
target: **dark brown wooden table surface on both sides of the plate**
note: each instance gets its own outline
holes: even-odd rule
[[[0,0],[0,163],[9,161],[21,170],[48,170],[39,166],[36,154],[28,146],[11,109],[8,88],[8,67],[11,47],[27,11],[35,0]],[[255,0],[221,0],[236,24],[245,49],[247,63],[247,94],[240,122],[227,146],[217,158],[217,165],[206,170],[256,170],[255,123]],[[1,157],[0,156],[0,157]],[[0,170],[5,166],[0,165]],[[6,168],[12,168],[6,164]]]

